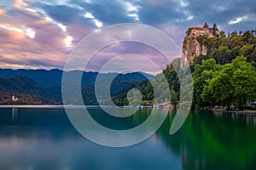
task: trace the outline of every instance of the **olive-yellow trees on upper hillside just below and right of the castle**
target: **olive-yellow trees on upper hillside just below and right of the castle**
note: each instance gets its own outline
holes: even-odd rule
[[[189,37],[191,38],[191,37]],[[197,64],[201,64],[201,60],[213,58],[218,64],[224,65],[230,63],[238,55],[243,55],[251,62],[253,66],[256,63],[256,37],[255,31],[245,31],[238,34],[236,31],[231,32],[230,36],[226,37],[224,31],[220,31],[219,37],[196,37],[196,40],[201,45],[207,47],[207,55],[205,57],[195,57],[195,63],[192,64],[193,68]],[[187,42],[187,37],[184,43]]]

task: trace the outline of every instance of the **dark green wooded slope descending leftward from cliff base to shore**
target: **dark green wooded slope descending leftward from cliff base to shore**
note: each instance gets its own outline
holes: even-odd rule
[[[166,69],[163,70],[163,73],[160,73],[159,75],[154,77],[153,80],[138,83],[137,85],[130,87],[129,89],[137,88],[141,92],[141,94],[143,95],[143,105],[155,102],[163,103],[170,100],[172,104],[177,105],[177,101],[179,100],[180,83],[177,77],[176,70],[178,66],[176,66],[175,69],[174,65],[180,65],[180,59],[174,59],[172,61],[172,64],[166,65]],[[165,78],[168,86],[166,86],[166,83],[164,81]],[[126,89],[113,99],[116,105],[128,105],[126,95],[129,89]],[[168,94],[168,90],[170,90],[170,94]]]

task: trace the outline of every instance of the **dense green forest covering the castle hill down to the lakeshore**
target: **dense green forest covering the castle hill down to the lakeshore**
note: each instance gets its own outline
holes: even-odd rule
[[[191,30],[191,29],[190,29]],[[188,29],[189,31],[189,29]],[[187,33],[188,33],[187,31]],[[207,47],[207,54],[195,57],[190,64],[193,75],[194,108],[212,108],[222,105],[227,109],[244,109],[256,101],[256,30],[239,31],[225,35],[220,31],[217,37],[196,38]],[[186,41],[186,39],[184,40]],[[179,100],[179,80],[173,65],[180,59],[174,59],[163,71],[170,87],[171,101]],[[154,103],[154,90],[149,81],[141,82],[131,88],[139,89],[143,94],[143,105]],[[117,105],[128,105],[125,97],[129,89],[114,101]]]

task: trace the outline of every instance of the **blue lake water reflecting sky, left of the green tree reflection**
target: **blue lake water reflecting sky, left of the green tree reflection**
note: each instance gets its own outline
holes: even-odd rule
[[[131,147],[108,148],[79,135],[62,109],[13,111],[0,109],[0,169],[182,168],[179,156],[166,150],[155,136]],[[101,111],[95,111],[101,119]],[[124,123],[143,121],[147,114],[130,117]]]

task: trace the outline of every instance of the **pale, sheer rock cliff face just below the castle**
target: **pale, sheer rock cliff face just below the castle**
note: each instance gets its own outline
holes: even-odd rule
[[[201,45],[196,37],[185,37],[183,41],[183,56],[188,63],[193,63],[193,59],[200,54],[207,54],[207,47]]]

